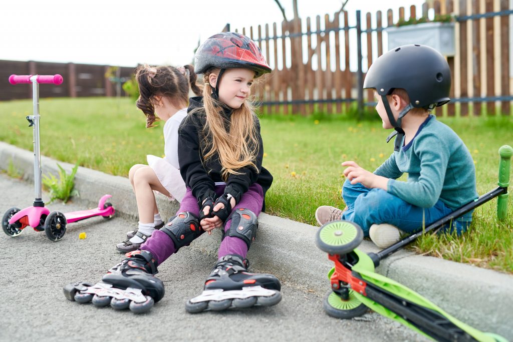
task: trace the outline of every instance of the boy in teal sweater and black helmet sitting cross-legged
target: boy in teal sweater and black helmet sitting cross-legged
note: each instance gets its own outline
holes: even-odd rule
[[[383,128],[393,128],[394,151],[373,173],[353,161],[342,163],[346,209],[322,206],[320,225],[344,219],[362,227],[378,247],[386,248],[478,197],[476,170],[461,138],[430,115],[449,102],[449,65],[436,50],[406,45],[380,56],[369,68],[364,88],[374,89]],[[408,114],[408,115],[406,115]],[[408,174],[406,182],[397,180]],[[464,232],[472,212],[446,230]],[[448,229],[447,229],[448,228]]]

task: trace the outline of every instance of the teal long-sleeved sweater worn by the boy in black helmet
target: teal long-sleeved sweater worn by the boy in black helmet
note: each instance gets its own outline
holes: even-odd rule
[[[408,180],[397,180],[405,172]],[[374,174],[390,178],[389,193],[422,208],[430,208],[440,199],[456,210],[478,197],[470,152],[458,134],[434,115],[429,115],[408,145],[394,151]],[[471,221],[472,212],[458,220]]]

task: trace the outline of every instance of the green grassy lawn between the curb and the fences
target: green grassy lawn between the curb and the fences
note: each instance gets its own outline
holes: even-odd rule
[[[127,176],[146,154],[162,155],[162,128],[145,128],[145,117],[126,98],[41,99],[41,153],[114,175]],[[26,115],[31,100],[0,103],[0,140],[32,149]],[[497,187],[498,149],[513,146],[513,117],[439,118],[460,135],[476,164],[478,192]],[[342,208],[340,163],[355,160],[376,169],[393,151],[381,122],[343,116],[261,118],[264,166],[274,176],[266,196],[268,213],[315,224],[320,205]],[[512,185],[513,187],[513,185]],[[508,219],[497,223],[496,200],[474,213],[465,236],[425,236],[413,248],[480,267],[513,273],[513,196]],[[286,228],[286,227],[285,227]]]

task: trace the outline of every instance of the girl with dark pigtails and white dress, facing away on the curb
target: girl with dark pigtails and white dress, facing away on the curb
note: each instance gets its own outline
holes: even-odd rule
[[[148,165],[136,164],[130,168],[128,178],[135,193],[139,224],[127,233],[127,240],[117,244],[120,252],[131,252],[146,241],[164,222],[155,202],[153,191],[181,202],[185,183],[178,163],[178,127],[187,116],[189,92],[200,95],[196,74],[191,65],[179,68],[142,65],[135,70],[140,96],[136,106],[146,115],[146,127],[154,127],[157,120],[164,121],[164,158],[148,155]]]

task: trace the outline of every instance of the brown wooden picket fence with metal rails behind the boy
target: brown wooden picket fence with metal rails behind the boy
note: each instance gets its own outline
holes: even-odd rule
[[[345,113],[351,106],[361,109],[374,102],[372,91],[362,91],[361,86],[364,72],[384,52],[384,29],[408,18],[454,13],[456,55],[447,58],[452,101],[442,107],[444,114],[509,115],[513,100],[509,17],[513,11],[508,0],[484,0],[484,7],[481,3],[445,0],[441,6],[437,0],[431,8],[427,3],[421,9],[410,6],[408,15],[401,7],[398,17],[393,17],[391,9],[386,17],[381,11],[365,16],[358,11],[356,26],[349,26],[349,15],[354,13],[343,11],[307,17],[306,23],[296,18],[235,31],[258,42],[273,69],[255,91],[264,113]],[[350,63],[355,54],[356,67]]]

